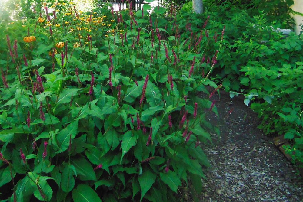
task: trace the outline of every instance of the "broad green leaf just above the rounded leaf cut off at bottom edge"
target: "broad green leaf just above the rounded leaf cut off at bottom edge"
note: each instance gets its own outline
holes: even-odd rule
[[[81,180],[97,180],[92,165],[86,161],[85,158],[74,158],[71,160],[71,163],[75,166],[77,174]]]

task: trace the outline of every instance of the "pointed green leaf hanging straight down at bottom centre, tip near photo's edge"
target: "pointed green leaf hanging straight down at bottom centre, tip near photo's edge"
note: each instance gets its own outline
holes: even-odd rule
[[[144,197],[146,192],[151,188],[156,180],[157,175],[154,174],[149,167],[143,168],[142,175],[138,176],[138,181],[141,187],[141,199]]]

